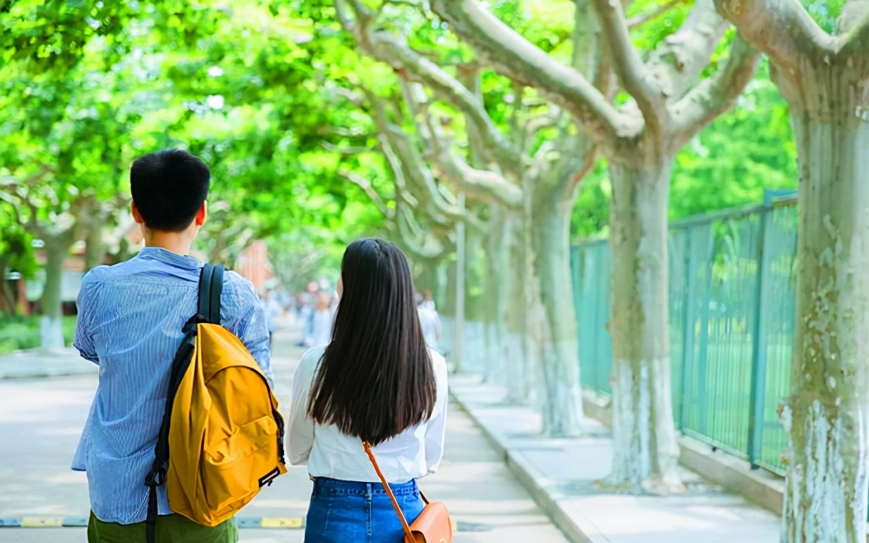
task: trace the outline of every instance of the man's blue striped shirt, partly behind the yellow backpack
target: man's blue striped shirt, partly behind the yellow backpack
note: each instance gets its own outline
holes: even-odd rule
[[[145,520],[145,475],[154,461],[172,358],[182,325],[196,313],[196,258],[145,247],[118,265],[88,272],[78,295],[73,343],[99,364],[99,384],[72,468],[88,472],[96,518]],[[235,272],[223,276],[221,324],[242,340],[272,381],[269,332],[253,286]],[[159,513],[169,514],[165,487]]]

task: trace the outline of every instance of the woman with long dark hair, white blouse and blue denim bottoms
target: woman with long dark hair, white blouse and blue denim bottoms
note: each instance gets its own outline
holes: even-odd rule
[[[361,239],[344,252],[332,342],[293,377],[289,460],[308,463],[308,543],[401,543],[404,533],[362,442],[369,442],[408,523],[424,503],[416,479],[441,463],[447,363],[426,347],[408,260]]]

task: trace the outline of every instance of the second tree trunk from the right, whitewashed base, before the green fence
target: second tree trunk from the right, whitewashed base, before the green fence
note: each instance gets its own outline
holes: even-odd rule
[[[640,154],[639,152],[637,154]],[[632,492],[684,490],[670,395],[667,193],[672,157],[610,162],[613,201],[613,471]]]

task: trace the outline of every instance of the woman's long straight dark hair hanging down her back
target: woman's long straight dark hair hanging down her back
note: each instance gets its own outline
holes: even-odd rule
[[[344,252],[344,291],[320,362],[308,415],[373,445],[432,415],[434,369],[404,253],[382,239]]]

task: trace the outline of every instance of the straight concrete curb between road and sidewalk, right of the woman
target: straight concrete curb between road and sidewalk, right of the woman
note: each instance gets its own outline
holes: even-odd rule
[[[462,402],[461,398],[454,394],[452,390],[450,391],[450,396],[452,396],[453,401],[461,407],[461,410],[471,417],[471,420],[474,421],[474,426],[480,429],[482,435],[486,438],[486,441],[492,448],[494,448],[495,453],[507,464],[507,468],[512,474],[514,474],[514,477],[519,481],[519,484],[525,488],[527,493],[531,495],[531,498],[541,507],[541,509],[543,509],[543,512],[553,521],[554,525],[564,533],[567,540],[570,540],[572,543],[608,542],[600,531],[594,527],[594,524],[592,524],[591,521],[586,519],[585,522],[577,522],[572,519],[558,503],[561,493],[550,492],[547,490],[547,487],[553,487],[554,483],[550,483],[542,477],[533,466],[522,458],[521,454],[516,454],[507,450],[498,437],[490,432],[489,429],[486,428],[479,419],[477,419],[476,415],[474,415],[474,411],[468,409],[465,402]]]

